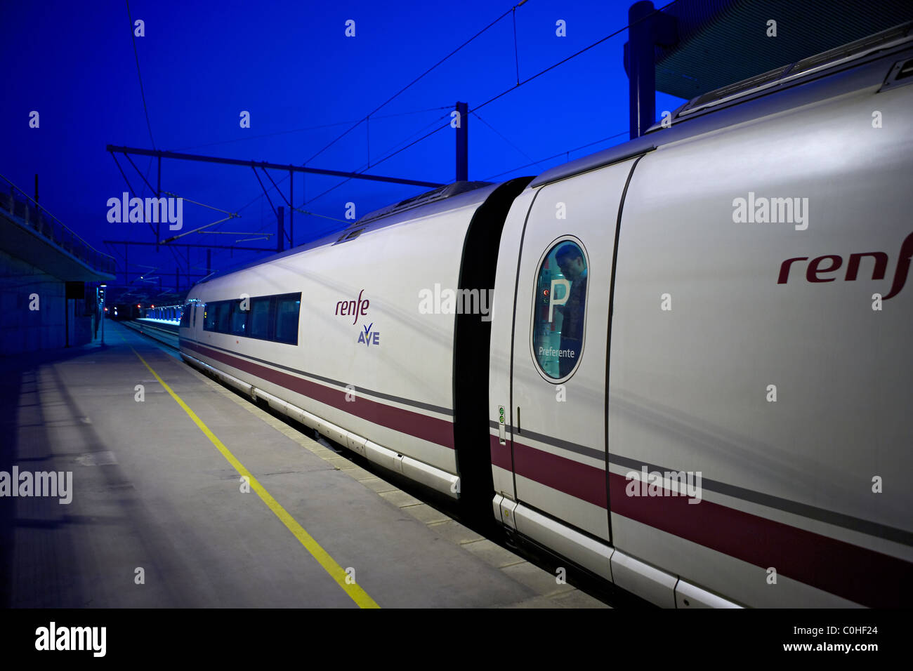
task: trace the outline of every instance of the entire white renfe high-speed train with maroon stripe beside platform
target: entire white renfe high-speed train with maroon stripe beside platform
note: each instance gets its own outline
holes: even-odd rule
[[[182,354],[653,603],[908,606],[911,82],[899,26],[394,204],[195,286]]]

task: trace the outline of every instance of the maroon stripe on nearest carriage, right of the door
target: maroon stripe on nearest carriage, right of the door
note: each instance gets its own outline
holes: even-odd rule
[[[908,561],[706,499],[689,504],[687,497],[629,497],[630,482],[609,474],[612,512],[762,569],[772,566],[780,575],[855,603],[897,608],[913,598]],[[758,580],[764,577],[759,572]]]

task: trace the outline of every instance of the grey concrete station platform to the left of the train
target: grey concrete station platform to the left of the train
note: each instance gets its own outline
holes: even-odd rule
[[[106,328],[105,348],[0,360],[0,471],[72,473],[69,504],[0,498],[0,605],[604,607],[164,346]],[[238,464],[275,506],[245,491]]]

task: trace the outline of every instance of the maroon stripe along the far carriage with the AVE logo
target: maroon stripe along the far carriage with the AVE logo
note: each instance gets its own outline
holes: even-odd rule
[[[300,393],[302,396],[307,396],[322,404],[332,405],[334,408],[362,417],[362,419],[366,419],[376,425],[386,426],[404,434],[415,435],[416,438],[422,438],[440,446],[451,449],[454,447],[453,424],[446,420],[429,417],[426,414],[414,413],[411,410],[404,410],[403,408],[378,403],[362,397],[349,403],[345,400],[346,391],[313,383],[297,375],[277,371],[259,363],[248,362],[246,359],[239,359],[231,354],[211,350],[193,342],[184,341],[182,344],[184,347],[198,351],[210,359],[215,359],[215,361],[226,363],[238,370],[249,372],[251,375],[256,375],[258,378],[270,383],[278,384],[291,392]]]

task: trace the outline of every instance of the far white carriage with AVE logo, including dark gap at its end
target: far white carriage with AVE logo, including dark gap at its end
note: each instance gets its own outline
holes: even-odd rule
[[[488,452],[468,449],[472,433],[485,441],[468,420],[485,412],[488,321],[439,297],[488,299],[500,227],[529,181],[457,183],[208,279],[189,296],[184,358],[460,498],[461,474],[490,482]]]

